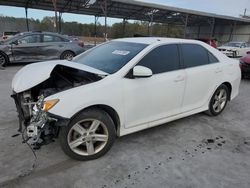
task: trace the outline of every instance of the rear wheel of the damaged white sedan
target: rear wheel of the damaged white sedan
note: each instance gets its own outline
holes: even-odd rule
[[[227,86],[222,84],[214,92],[210,102],[207,114],[211,116],[219,115],[226,107],[229,99],[229,90]]]

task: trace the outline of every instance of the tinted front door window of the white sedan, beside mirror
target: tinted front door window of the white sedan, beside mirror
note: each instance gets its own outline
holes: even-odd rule
[[[150,68],[153,74],[177,70],[180,67],[178,46],[159,46],[144,56],[137,65]]]

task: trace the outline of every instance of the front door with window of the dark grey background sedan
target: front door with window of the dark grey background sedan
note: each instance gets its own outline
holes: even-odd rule
[[[36,62],[41,59],[41,35],[30,34],[20,37],[16,44],[11,45],[15,62]]]

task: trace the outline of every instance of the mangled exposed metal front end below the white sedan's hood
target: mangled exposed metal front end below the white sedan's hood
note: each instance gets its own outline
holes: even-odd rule
[[[46,103],[51,101],[45,101],[44,95],[39,96],[37,102],[32,102],[30,95],[27,93],[22,95],[12,95],[19,116],[18,131],[23,134],[25,142],[38,149],[41,145],[48,144],[53,141],[53,138],[57,137],[59,127],[55,126],[55,123],[62,120],[48,113]],[[20,98],[24,99],[23,102]],[[54,101],[54,104],[58,101]],[[64,119],[65,125],[67,125],[67,122],[68,120]]]

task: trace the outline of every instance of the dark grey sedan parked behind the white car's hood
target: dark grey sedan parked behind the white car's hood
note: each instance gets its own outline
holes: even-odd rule
[[[0,65],[72,58],[84,52],[82,41],[51,32],[25,32],[0,42]]]

